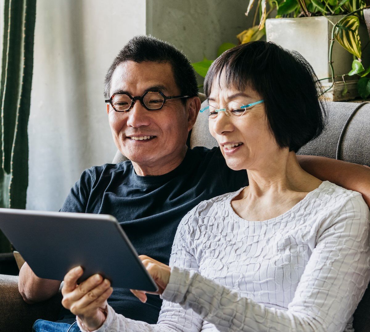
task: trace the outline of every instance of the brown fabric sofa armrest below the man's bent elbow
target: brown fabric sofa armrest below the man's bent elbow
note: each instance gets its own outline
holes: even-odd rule
[[[0,274],[0,331],[32,331],[33,323],[41,318],[58,319],[62,295],[37,304],[26,304],[18,291],[18,276]]]

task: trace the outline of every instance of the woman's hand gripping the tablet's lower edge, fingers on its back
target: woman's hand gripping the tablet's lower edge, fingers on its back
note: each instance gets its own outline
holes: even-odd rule
[[[84,329],[94,331],[100,328],[107,317],[107,299],[113,288],[110,287],[110,281],[99,274],[94,274],[77,285],[82,274],[83,269],[78,266],[65,275],[62,305],[78,316]]]

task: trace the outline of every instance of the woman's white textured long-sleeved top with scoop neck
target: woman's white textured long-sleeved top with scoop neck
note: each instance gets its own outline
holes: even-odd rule
[[[284,214],[248,221],[231,207],[242,189],[182,219],[157,325],[108,306],[97,331],[353,331],[370,280],[361,194],[325,181]]]

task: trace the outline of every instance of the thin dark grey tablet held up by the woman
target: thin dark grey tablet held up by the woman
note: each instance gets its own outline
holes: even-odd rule
[[[158,290],[122,227],[108,214],[0,209],[0,229],[40,278],[63,280],[81,265],[112,287]]]

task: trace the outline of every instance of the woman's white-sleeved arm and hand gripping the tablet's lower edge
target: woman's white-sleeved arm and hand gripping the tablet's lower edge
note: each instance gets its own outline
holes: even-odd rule
[[[189,252],[189,242],[187,241],[190,233],[189,222],[193,218],[192,211],[186,214],[179,224],[174,244],[172,245],[170,264],[178,265],[191,271],[198,271],[198,263]],[[159,264],[164,265],[162,263]],[[65,308],[70,309],[73,314],[77,315],[77,323],[81,331],[194,332],[202,329],[203,319],[198,314],[191,309],[184,309],[179,304],[168,301],[163,301],[157,324],[134,321],[119,315],[106,302],[110,295],[110,292],[108,292],[110,284],[102,285],[103,280],[101,278],[100,281],[97,281],[98,285],[95,287],[92,280],[93,276],[77,287],[76,283],[82,271],[78,274],[75,274],[75,272],[71,270],[64,278],[62,304]],[[105,317],[103,313],[106,315]]]

